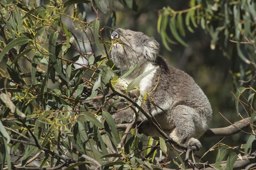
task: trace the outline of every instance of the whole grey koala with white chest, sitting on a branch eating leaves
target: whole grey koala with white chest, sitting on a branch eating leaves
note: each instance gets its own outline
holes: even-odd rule
[[[163,131],[181,147],[201,143],[198,138],[208,129],[212,120],[212,109],[202,89],[193,78],[172,66],[159,55],[159,43],[142,32],[116,29],[111,34],[113,63],[123,70],[136,68],[126,78],[119,79],[118,89],[127,88],[134,78],[153,69],[138,84],[140,95],[145,102],[143,109],[161,126]],[[129,108],[112,115],[116,123],[131,123],[134,111]],[[138,122],[142,133],[154,138],[160,133],[139,113]]]

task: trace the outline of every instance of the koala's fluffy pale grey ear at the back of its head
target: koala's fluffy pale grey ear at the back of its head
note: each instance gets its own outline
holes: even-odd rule
[[[149,61],[155,61],[159,55],[159,43],[153,38],[144,41],[145,58]]]

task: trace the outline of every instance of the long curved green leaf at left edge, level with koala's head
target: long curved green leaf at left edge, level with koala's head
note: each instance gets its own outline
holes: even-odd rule
[[[3,56],[6,54],[6,52],[8,52],[10,49],[14,48],[15,46],[21,46],[25,43],[29,42],[29,38],[28,37],[18,37],[15,38],[14,40],[12,40],[11,42],[9,42],[4,48],[3,51],[0,53],[0,62],[3,59]]]

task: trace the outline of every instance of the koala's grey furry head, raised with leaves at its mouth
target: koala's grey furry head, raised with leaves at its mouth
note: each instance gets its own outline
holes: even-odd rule
[[[142,32],[116,29],[111,34],[113,62],[120,69],[131,69],[136,63],[154,62],[159,52],[159,43]]]

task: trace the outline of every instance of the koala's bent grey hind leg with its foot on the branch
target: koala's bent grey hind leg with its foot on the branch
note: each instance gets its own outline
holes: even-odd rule
[[[175,123],[175,129],[170,133],[170,138],[180,146],[187,148],[195,146],[200,149],[201,142],[196,138],[201,134],[196,134],[198,131],[196,128],[201,124],[201,118],[195,109],[178,105],[171,110],[170,116]]]

